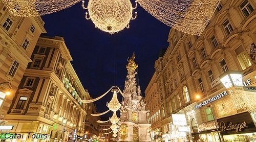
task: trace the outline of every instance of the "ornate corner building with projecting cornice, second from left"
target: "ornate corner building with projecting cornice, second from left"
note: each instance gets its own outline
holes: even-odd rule
[[[90,95],[76,75],[63,37],[41,35],[31,60],[5,117],[6,125],[13,126],[7,132],[26,135],[17,141],[33,141],[28,132],[47,134],[44,141],[83,137],[87,113],[80,100]]]

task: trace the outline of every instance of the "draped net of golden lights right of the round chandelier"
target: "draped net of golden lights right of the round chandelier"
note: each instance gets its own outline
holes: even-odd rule
[[[138,0],[148,13],[184,33],[201,35],[220,0]]]

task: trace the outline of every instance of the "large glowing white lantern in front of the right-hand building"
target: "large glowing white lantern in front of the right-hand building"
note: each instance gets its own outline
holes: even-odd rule
[[[242,73],[237,71],[227,71],[220,76],[222,84],[228,89],[232,86],[243,86]]]

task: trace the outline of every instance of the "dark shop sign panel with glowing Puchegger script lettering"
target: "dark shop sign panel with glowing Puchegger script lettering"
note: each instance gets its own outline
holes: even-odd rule
[[[256,128],[249,112],[244,112],[217,120],[221,134],[255,132]]]

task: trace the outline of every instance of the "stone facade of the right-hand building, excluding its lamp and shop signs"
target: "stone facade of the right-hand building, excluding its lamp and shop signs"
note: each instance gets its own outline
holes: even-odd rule
[[[228,70],[240,71],[244,82],[255,84],[255,61],[249,55],[251,45],[256,43],[255,8],[256,3],[250,0],[222,0],[201,36],[170,30],[169,46],[155,62],[156,71],[145,90],[152,137],[219,141],[217,132],[209,133],[211,139],[196,134],[198,126],[212,121],[213,117],[209,107],[195,109],[195,106],[228,91],[220,81],[220,76]],[[216,120],[238,113],[228,107],[221,109],[225,102],[230,102],[230,97],[211,103]],[[185,114],[188,132],[181,134],[178,126],[173,125],[175,113]],[[175,136],[178,134],[179,137]]]

